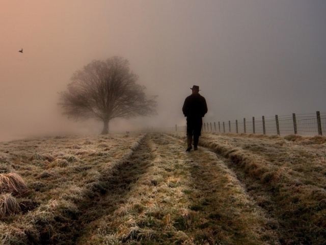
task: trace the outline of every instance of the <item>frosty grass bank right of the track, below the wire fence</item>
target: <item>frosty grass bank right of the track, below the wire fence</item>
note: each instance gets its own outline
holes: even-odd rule
[[[184,134],[171,136],[185,141]],[[276,220],[281,244],[326,244],[325,138],[203,134],[248,194]]]

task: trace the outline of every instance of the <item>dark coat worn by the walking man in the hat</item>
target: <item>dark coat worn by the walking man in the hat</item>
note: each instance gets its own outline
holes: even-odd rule
[[[205,98],[199,93],[189,95],[184,100],[182,112],[187,119],[202,118],[207,113]]]

